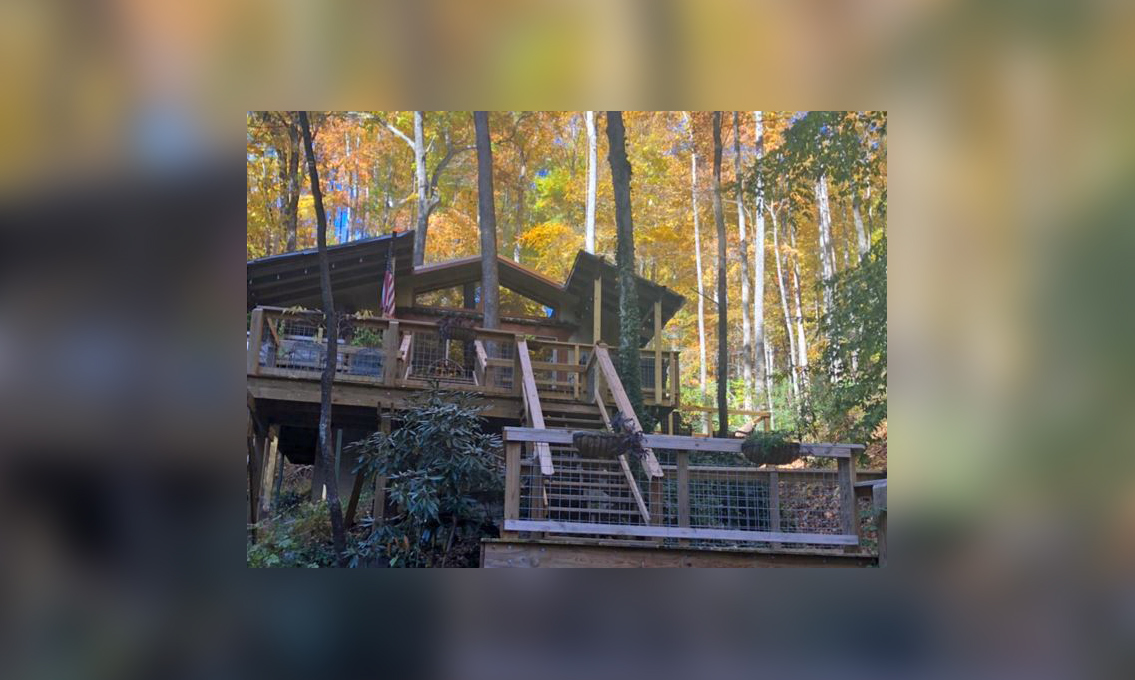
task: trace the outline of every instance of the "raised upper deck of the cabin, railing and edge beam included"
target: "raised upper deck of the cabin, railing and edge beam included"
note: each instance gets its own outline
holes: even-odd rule
[[[326,354],[322,314],[257,308],[251,312],[247,383],[254,398],[318,401]],[[595,345],[469,329],[447,338],[427,321],[360,318],[340,330],[333,403],[397,403],[430,381],[484,395],[502,417],[527,409],[526,380],[538,400],[590,403],[587,364]],[[679,353],[642,354],[644,401],[679,405]],[[312,395],[314,394],[314,398]],[[608,403],[613,398],[606,392]],[[505,413],[507,412],[507,414]],[[528,422],[535,414],[528,412]]]

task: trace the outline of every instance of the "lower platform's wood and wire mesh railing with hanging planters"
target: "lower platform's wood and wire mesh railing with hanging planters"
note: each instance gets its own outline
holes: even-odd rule
[[[834,469],[754,467],[737,439],[647,435],[663,475],[583,457],[572,433],[504,428],[504,535],[655,539],[675,545],[859,545],[852,444],[804,444]],[[537,445],[555,472],[541,472]],[[645,462],[645,461],[644,461]]]

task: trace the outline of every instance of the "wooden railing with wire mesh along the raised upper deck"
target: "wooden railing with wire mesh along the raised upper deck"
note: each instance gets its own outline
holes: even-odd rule
[[[523,335],[473,328],[443,337],[436,324],[403,319],[345,318],[339,325],[336,383],[418,387],[438,380],[482,394],[522,395],[516,341]],[[588,344],[527,337],[532,378],[540,398],[578,401],[586,392]],[[327,355],[323,314],[313,310],[260,307],[252,310],[247,373],[318,379]],[[644,376],[654,355],[642,355]],[[648,404],[678,405],[678,352],[663,353],[662,391],[644,389]],[[649,366],[648,366],[649,364]],[[649,371],[647,370],[649,368]],[[661,401],[657,401],[661,400]]]

